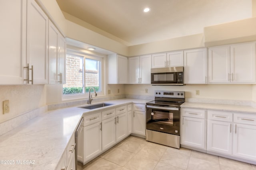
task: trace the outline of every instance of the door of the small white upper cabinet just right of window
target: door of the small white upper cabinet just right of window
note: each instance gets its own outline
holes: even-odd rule
[[[121,55],[117,55],[117,75],[118,84],[127,83],[127,58]]]

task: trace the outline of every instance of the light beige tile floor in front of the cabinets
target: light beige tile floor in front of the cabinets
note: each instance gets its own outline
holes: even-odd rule
[[[174,149],[130,136],[84,170],[256,170],[256,165],[190,149]]]

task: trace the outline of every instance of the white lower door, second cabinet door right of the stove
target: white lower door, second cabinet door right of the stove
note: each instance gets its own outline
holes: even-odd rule
[[[207,121],[207,150],[232,154],[232,123]]]

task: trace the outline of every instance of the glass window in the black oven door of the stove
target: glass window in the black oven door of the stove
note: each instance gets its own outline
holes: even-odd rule
[[[173,113],[153,110],[152,120],[160,124],[173,125]]]

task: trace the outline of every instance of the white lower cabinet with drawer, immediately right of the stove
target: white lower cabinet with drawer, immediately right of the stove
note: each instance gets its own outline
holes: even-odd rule
[[[206,150],[206,110],[182,108],[181,145]]]

